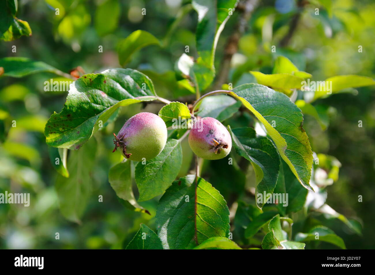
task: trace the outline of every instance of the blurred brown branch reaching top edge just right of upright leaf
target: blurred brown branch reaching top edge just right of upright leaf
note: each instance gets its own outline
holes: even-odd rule
[[[213,86],[213,90],[221,88],[223,83],[228,80],[229,69],[231,65],[232,56],[238,51],[238,43],[243,33],[245,33],[250,16],[254,11],[255,7],[258,6],[259,0],[240,0],[236,10],[240,12],[239,22],[234,30],[234,33],[228,38],[225,49],[224,57],[220,64],[220,71],[217,74],[216,82]]]

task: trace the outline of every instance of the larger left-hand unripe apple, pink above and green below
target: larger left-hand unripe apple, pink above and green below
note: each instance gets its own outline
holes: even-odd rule
[[[115,150],[132,161],[155,158],[164,149],[167,139],[165,122],[153,113],[138,113],[130,117],[115,135]]]

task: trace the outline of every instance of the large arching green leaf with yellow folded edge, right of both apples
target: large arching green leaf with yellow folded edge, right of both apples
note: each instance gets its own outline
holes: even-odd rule
[[[300,183],[312,190],[309,184],[312,150],[302,128],[301,110],[286,95],[259,84],[243,84],[229,94],[240,100],[263,123],[281,158]]]

